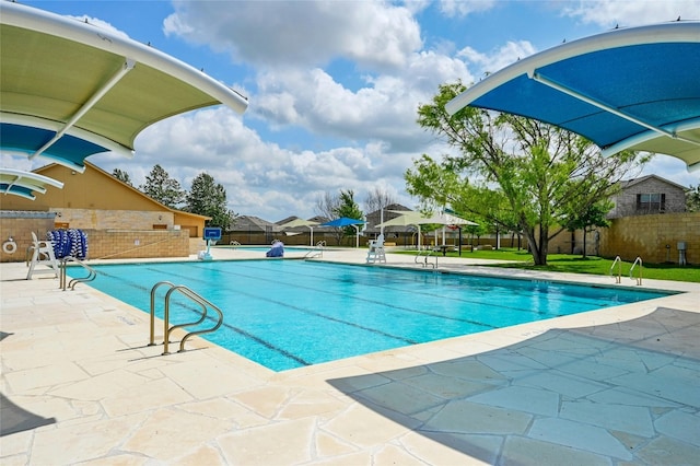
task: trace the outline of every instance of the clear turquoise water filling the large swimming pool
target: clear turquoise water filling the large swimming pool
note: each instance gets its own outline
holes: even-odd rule
[[[147,313],[156,282],[189,287],[224,312],[203,338],[275,371],[666,295],[302,260],[92,267],[92,287]],[[196,321],[200,307],[178,296],[171,324]]]

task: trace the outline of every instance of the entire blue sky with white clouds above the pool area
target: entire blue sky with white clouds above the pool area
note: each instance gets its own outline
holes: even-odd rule
[[[470,84],[563,40],[643,24],[700,20],[700,0],[443,1],[22,1],[121,32],[248,97],[171,117],[143,130],[132,159],[89,162],[125,171],[135,186],[160,164],[184,189],[202,172],[241,215],[315,215],[325,194],[352,190],[364,209],[381,189],[416,208],[404,173],[444,141],[417,109],[440,84]],[[46,162],[2,155],[2,165]],[[643,172],[700,184],[685,164],[656,155]]]

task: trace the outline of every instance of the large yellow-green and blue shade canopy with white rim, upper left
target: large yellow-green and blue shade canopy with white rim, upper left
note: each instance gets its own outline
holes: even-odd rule
[[[84,171],[97,152],[130,156],[145,128],[247,100],[158,49],[84,21],[0,1],[0,149]]]

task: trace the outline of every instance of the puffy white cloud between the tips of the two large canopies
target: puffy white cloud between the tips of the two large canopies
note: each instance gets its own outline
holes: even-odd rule
[[[394,151],[420,150],[424,131],[416,124],[417,109],[445,81],[471,75],[458,59],[434,53],[412,54],[399,74],[365,77],[366,86],[345,88],[327,71],[315,69],[270,72],[258,78],[259,95],[250,109],[273,127],[299,126],[312,133],[348,141],[382,140]]]

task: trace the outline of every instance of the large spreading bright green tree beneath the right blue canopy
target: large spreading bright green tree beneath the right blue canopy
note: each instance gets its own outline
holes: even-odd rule
[[[527,238],[535,264],[546,265],[549,241],[564,229],[563,218],[609,197],[640,158],[632,152],[603,158],[580,136],[515,115],[465,107],[450,116],[445,104],[465,90],[462,83],[443,84],[419,107],[418,124],[454,153],[441,161],[423,155],[406,174],[408,189],[421,200],[455,196],[485,218],[497,217],[498,200],[498,217],[510,218]],[[465,211],[464,205],[454,208]]]

